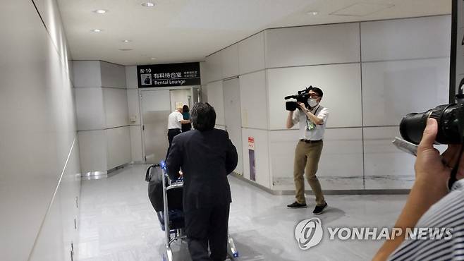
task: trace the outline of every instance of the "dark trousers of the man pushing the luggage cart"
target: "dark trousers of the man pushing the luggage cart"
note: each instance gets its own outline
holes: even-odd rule
[[[229,205],[185,212],[185,233],[193,261],[224,261],[227,257]],[[211,255],[208,253],[211,250]]]

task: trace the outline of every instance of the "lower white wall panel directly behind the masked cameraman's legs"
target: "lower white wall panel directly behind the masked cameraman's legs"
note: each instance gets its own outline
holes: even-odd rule
[[[269,132],[274,189],[294,190],[293,161],[298,130]],[[323,190],[362,189],[362,129],[327,129],[317,177]],[[305,189],[310,186],[305,181]]]

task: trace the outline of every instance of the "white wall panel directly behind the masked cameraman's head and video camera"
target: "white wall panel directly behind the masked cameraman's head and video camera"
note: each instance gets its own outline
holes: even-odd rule
[[[267,75],[271,130],[286,128],[288,111],[283,97],[310,85],[324,92],[321,105],[329,109],[327,127],[361,126],[359,63],[269,69]]]

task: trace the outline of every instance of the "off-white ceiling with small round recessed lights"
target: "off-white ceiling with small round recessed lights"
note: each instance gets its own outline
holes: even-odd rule
[[[155,5],[145,7],[141,5],[143,1]],[[451,13],[451,0],[58,0],[58,3],[73,59],[121,65],[204,61],[205,56],[266,28]],[[97,9],[107,12],[94,13]],[[92,32],[97,28],[102,32]]]

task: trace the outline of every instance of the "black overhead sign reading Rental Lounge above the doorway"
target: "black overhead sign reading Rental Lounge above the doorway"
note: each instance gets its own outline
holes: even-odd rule
[[[200,63],[137,66],[138,87],[200,85]]]

